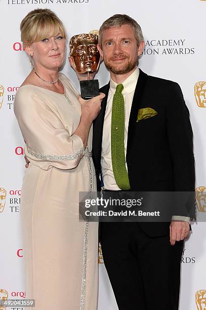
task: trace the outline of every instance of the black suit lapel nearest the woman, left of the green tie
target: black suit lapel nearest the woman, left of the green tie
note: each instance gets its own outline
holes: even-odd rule
[[[109,83],[103,86],[100,89],[100,92],[104,93],[106,96],[102,100],[101,111],[99,112],[98,117],[93,123],[93,145],[92,145],[94,161],[98,168],[99,168],[100,160],[101,160],[103,124],[104,124],[104,115],[105,115],[105,110],[106,110],[106,105],[107,105],[107,97],[108,97],[108,92],[109,92]]]

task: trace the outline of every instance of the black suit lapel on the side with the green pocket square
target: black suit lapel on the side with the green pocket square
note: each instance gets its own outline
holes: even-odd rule
[[[137,120],[137,114],[140,108],[141,97],[144,91],[146,80],[147,80],[147,74],[144,73],[140,69],[140,74],[139,74],[139,78],[137,81],[137,85],[136,85],[136,89],[135,89],[135,93],[133,97],[133,102],[132,102],[132,107],[131,107],[131,112],[130,112],[130,120],[129,120],[129,126],[128,126],[127,158],[128,158],[130,147],[133,142],[133,138],[134,138],[134,130],[135,130],[135,125],[136,125],[136,120]]]

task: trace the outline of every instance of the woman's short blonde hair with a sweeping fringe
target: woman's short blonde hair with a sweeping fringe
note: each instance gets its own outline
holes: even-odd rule
[[[24,46],[61,33],[66,37],[62,21],[49,9],[36,9],[29,12],[21,21],[21,41]]]

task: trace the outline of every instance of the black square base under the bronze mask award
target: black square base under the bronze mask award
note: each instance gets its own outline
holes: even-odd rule
[[[80,81],[81,98],[91,99],[99,95],[99,81]]]

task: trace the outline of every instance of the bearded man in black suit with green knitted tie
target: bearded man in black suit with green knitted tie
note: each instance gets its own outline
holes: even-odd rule
[[[144,49],[138,23],[127,15],[110,17],[100,27],[98,49],[110,72],[93,131],[98,190],[102,171],[107,190],[194,191],[189,112],[177,83],[137,67]],[[178,309],[189,233],[189,218],[178,215],[171,223],[101,223],[103,258],[120,310]]]

